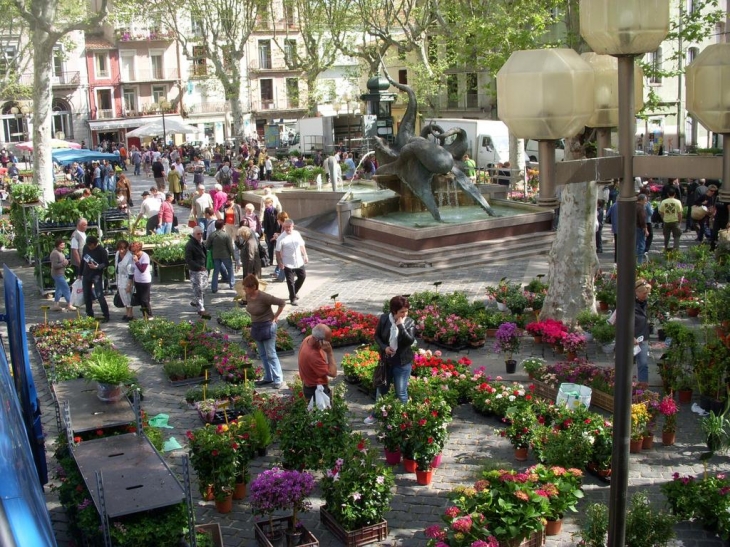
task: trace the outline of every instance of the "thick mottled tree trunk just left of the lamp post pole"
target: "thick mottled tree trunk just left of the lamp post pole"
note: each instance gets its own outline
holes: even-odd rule
[[[540,318],[572,323],[586,308],[595,311],[593,276],[598,268],[596,256],[595,182],[566,184],[560,200],[558,232],[550,250],[550,267]]]

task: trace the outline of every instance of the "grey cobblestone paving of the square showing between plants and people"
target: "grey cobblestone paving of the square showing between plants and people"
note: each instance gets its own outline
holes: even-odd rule
[[[135,203],[141,203],[140,194],[145,187],[149,187],[151,179],[132,177],[134,183]],[[208,181],[209,184],[212,181]],[[187,214],[179,215],[181,222],[187,219]],[[610,235],[607,238],[609,251],[602,255],[602,258],[610,260],[613,249],[610,248]],[[33,268],[21,263],[13,252],[2,252],[2,259],[8,263],[24,281],[26,298],[26,317],[28,324],[43,321],[43,313],[40,305],[45,302],[39,294],[33,279]],[[423,276],[399,278],[386,274],[359,264],[352,264],[331,256],[325,256],[319,252],[310,252],[310,265],[307,270],[307,280],[301,290],[301,305],[299,309],[314,308],[317,306],[332,303],[331,296],[339,295],[337,300],[345,305],[363,312],[379,313],[382,310],[386,298],[394,294],[408,294],[416,291],[433,289],[435,282],[442,282],[439,290],[451,292],[455,290],[466,291],[471,299],[483,298],[484,288],[488,284],[496,283],[502,277],[511,280],[529,281],[535,275],[547,273],[548,265],[546,258],[532,260],[518,260],[495,264],[481,264],[472,268],[461,268],[455,272],[424,272]],[[270,271],[270,270],[269,270]],[[286,287],[281,284],[270,284],[269,292],[276,296],[286,298]],[[188,305],[191,290],[188,283],[153,284],[152,305],[155,315],[167,317],[174,320],[194,319],[194,310]],[[232,291],[220,290],[209,305],[209,310],[215,316],[223,310],[233,306],[234,293]],[[292,308],[287,307],[286,311]],[[53,312],[49,312],[53,313]],[[58,312],[51,318],[61,317]],[[140,383],[145,389],[145,400],[143,407],[150,416],[158,413],[170,415],[170,425],[175,429],[166,430],[165,438],[174,436],[184,445],[185,431],[198,427],[200,421],[194,410],[190,410],[183,400],[185,388],[170,387],[165,380],[161,367],[151,362],[148,355],[135,346],[128,334],[126,323],[121,321],[122,314],[119,310],[112,309],[112,321],[104,325],[104,330],[109,333],[114,343],[124,352],[131,356],[133,366],[137,369]],[[287,327],[290,328],[290,327]],[[295,340],[298,334],[292,332]],[[338,362],[342,355],[352,351],[352,348],[345,348],[336,352]],[[532,342],[525,342],[519,358],[529,355],[541,355],[544,350],[534,346]],[[473,360],[474,367],[485,366],[492,375],[501,374],[506,379],[526,381],[527,378],[522,371],[514,375],[505,375],[503,357],[494,354],[491,344],[479,350],[463,352]],[[446,355],[449,355],[448,352]],[[545,355],[548,359],[556,359],[547,350]],[[595,350],[589,350],[589,357],[600,363],[608,363],[607,357]],[[33,366],[36,375],[36,382],[43,401],[44,427],[48,436],[47,448],[49,454],[49,469],[55,467],[50,460],[53,452],[55,437],[58,433],[55,414],[52,408],[52,401],[45,379],[38,370],[39,363],[33,358]],[[282,366],[285,377],[292,379],[296,372],[296,357],[288,356],[282,358]],[[655,367],[651,365],[651,383],[658,384],[658,375]],[[337,380],[338,382],[341,379]],[[347,400],[351,411],[351,424],[354,430],[362,431],[373,437],[373,428],[365,426],[362,419],[372,400],[359,392],[353,386],[348,386]],[[703,466],[698,459],[699,454],[704,450],[704,443],[700,437],[698,418],[690,412],[688,406],[683,406],[678,419],[677,444],[673,447],[663,447],[657,440],[654,449],[644,451],[640,455],[631,456],[629,494],[646,490],[653,500],[661,503],[663,497],[659,492],[659,485],[670,480],[674,472],[681,474],[699,474]],[[512,450],[509,443],[494,434],[498,423],[492,419],[477,415],[470,406],[463,405],[455,410],[454,421],[449,427],[450,440],[444,451],[444,464],[434,476],[434,482],[429,487],[417,486],[412,474],[403,472],[401,466],[395,468],[396,473],[396,494],[391,504],[391,510],[387,514],[390,528],[390,535],[382,545],[400,545],[421,547],[426,545],[426,538],[423,529],[431,524],[440,521],[440,515],[447,505],[446,494],[449,490],[460,484],[473,482],[480,468],[489,462],[504,462],[504,465],[515,465],[512,457]],[[373,439],[374,440],[374,439]],[[181,471],[181,456],[183,450],[165,454],[167,462],[177,471]],[[270,450],[264,458],[258,458],[252,462],[252,474],[272,466],[277,460],[277,450]],[[536,463],[533,459],[526,462],[527,465]],[[719,456],[712,460],[709,470],[715,471],[728,469],[730,460],[727,456]],[[597,479],[587,476],[585,479],[586,497],[580,508],[586,504],[601,501],[607,502],[609,495],[608,485],[599,482]],[[51,512],[52,521],[56,530],[59,545],[68,545],[69,537],[65,525],[65,516],[58,500],[49,487],[46,487],[48,508]],[[233,512],[228,515],[219,515],[215,512],[212,502],[201,501],[196,482],[193,478],[193,499],[195,513],[198,522],[218,522],[223,530],[225,545],[249,546],[255,545],[253,535],[253,515],[249,504],[236,502]],[[340,545],[334,536],[319,522],[318,507],[321,499],[316,495],[313,499],[314,510],[302,515],[305,525],[317,536],[322,546]],[[577,515],[568,515],[560,536],[550,538],[547,545],[568,546],[575,545],[577,540],[572,534],[577,530],[577,517],[580,516],[580,509]],[[683,523],[677,526],[677,532],[682,544],[688,547],[714,547],[723,545],[719,539],[713,538],[701,527]]]

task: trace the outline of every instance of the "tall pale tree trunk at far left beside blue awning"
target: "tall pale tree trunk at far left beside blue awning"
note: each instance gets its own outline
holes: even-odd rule
[[[33,32],[33,178],[41,187],[43,200],[54,201],[53,156],[51,155],[51,67],[53,43],[48,34]]]

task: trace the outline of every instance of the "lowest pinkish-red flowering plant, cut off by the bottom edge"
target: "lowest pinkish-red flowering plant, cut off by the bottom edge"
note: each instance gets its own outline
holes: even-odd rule
[[[499,547],[482,513],[463,514],[458,507],[449,507],[441,519],[446,526],[434,524],[424,530],[428,547]]]

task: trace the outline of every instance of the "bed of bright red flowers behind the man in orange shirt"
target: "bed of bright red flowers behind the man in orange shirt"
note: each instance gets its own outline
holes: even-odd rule
[[[369,344],[375,336],[378,317],[346,308],[341,302],[323,306],[312,311],[294,312],[287,317],[290,325],[303,335],[312,333],[312,328],[323,323],[332,329],[332,346]]]

